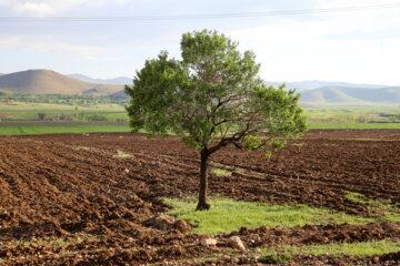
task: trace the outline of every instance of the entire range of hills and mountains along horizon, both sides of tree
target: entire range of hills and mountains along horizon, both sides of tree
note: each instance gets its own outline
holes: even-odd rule
[[[0,74],[0,92],[19,94],[90,94],[127,96],[124,84],[130,78],[92,79],[82,74],[63,75],[51,70],[28,70]],[[266,82],[278,86],[281,82]],[[287,89],[301,92],[306,105],[400,105],[400,86],[354,84],[347,82],[303,81],[287,82]]]

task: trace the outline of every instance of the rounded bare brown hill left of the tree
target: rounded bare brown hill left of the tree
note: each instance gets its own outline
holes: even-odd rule
[[[83,82],[51,70],[28,70],[0,75],[0,91],[19,94],[108,95],[122,89],[122,85]]]

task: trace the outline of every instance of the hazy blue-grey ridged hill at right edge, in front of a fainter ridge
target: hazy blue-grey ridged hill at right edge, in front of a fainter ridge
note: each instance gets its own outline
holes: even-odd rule
[[[300,102],[339,105],[399,105],[400,86],[380,89],[323,86],[301,92]]]

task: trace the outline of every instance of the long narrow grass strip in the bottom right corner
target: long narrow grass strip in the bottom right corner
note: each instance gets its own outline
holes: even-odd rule
[[[396,253],[400,250],[400,242],[392,241],[373,241],[359,243],[331,243],[324,245],[307,245],[307,246],[284,246],[281,249],[264,248],[261,256],[281,256],[281,255],[332,255],[343,256],[352,255],[358,257],[376,256],[387,253]]]

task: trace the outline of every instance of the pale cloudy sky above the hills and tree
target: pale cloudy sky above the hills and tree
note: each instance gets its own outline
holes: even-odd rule
[[[397,4],[390,9],[251,18],[26,21],[274,12]],[[184,32],[217,30],[252,50],[267,81],[400,85],[400,0],[0,0],[0,73],[49,69],[133,78],[161,50],[180,58]]]

